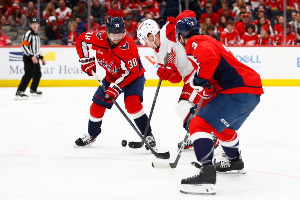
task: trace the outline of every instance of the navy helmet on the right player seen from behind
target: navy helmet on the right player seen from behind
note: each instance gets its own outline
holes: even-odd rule
[[[176,40],[179,41],[179,35],[187,37],[193,34],[200,35],[200,25],[194,17],[186,17],[178,20],[176,27]]]

